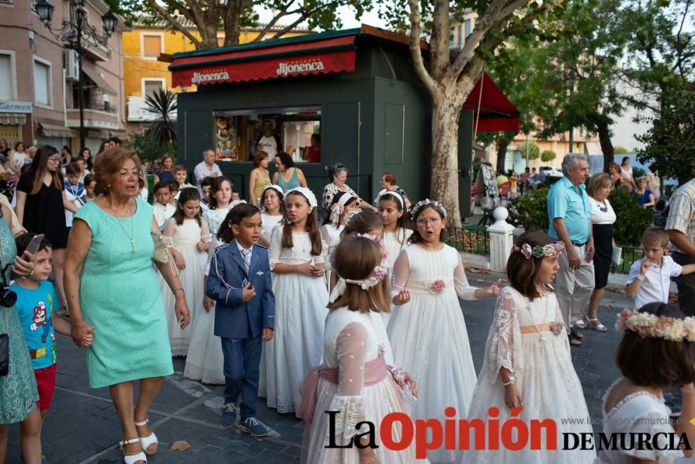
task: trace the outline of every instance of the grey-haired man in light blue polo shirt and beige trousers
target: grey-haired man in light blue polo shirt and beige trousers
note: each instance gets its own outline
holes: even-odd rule
[[[594,290],[591,203],[584,185],[589,177],[589,159],[584,154],[566,154],[562,173],[564,177],[548,192],[548,234],[565,246],[559,257],[555,292],[567,327],[584,328],[584,308]],[[574,328],[570,338],[571,344],[581,344],[581,334]]]

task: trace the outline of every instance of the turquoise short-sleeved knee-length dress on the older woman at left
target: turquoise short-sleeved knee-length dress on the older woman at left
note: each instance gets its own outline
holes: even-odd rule
[[[96,202],[75,214],[92,230],[80,285],[83,317],[95,328],[94,343],[86,350],[92,388],[174,373],[152,266],[152,205],[138,199],[136,204],[135,214],[126,218],[111,216]]]

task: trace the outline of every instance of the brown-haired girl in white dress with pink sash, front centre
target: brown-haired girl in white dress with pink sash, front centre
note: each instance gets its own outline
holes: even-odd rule
[[[334,254],[335,273],[340,275],[331,294],[330,312],[323,337],[324,362],[312,369],[302,385],[300,417],[304,426],[302,463],[403,463],[416,462],[411,445],[391,451],[382,445],[379,425],[387,414],[407,413],[400,390],[417,395],[417,385],[408,373],[401,374],[384,360],[370,312],[390,311],[386,269],[381,248],[368,237],[345,237]],[[380,320],[379,317],[376,320]],[[388,343],[388,341],[386,342]],[[398,381],[398,383],[397,383]],[[378,448],[327,448],[329,416],[338,411],[333,439],[338,445],[353,440],[359,422],[375,426]],[[402,440],[400,427],[391,438]],[[360,438],[368,445],[368,438]]]

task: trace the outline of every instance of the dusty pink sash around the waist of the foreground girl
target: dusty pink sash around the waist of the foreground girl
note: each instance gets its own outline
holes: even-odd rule
[[[384,355],[379,354],[373,360],[366,362],[364,365],[364,386],[369,387],[375,385],[384,380],[387,376],[391,376],[389,369],[386,368],[386,360],[384,360]],[[330,382],[334,385],[338,385],[338,368],[337,367],[326,367],[325,365],[320,365],[313,367],[309,374],[306,374],[304,382],[300,387],[300,395],[302,397],[300,401],[300,407],[297,411],[299,417],[304,420],[304,422],[313,421],[313,413],[316,410],[316,403],[318,401],[318,379]],[[392,382],[395,386],[395,382]],[[398,390],[398,387],[396,387]],[[400,397],[400,395],[399,395]]]

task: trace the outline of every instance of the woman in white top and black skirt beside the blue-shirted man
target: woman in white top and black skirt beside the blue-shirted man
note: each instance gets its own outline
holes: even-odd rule
[[[591,231],[594,236],[594,291],[589,297],[589,328],[605,332],[608,330],[598,320],[598,305],[608,283],[608,271],[613,255],[613,223],[616,216],[608,201],[613,179],[606,173],[597,173],[589,179],[587,194],[591,203]]]

